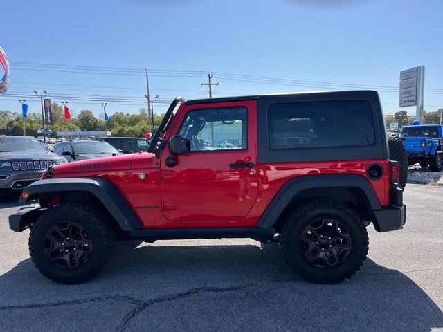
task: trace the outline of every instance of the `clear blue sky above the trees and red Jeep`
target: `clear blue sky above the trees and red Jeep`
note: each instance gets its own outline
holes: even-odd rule
[[[175,95],[206,97],[200,84],[208,71],[219,82],[214,96],[221,97],[331,90],[332,83],[395,88],[399,71],[425,65],[425,88],[440,89],[424,95],[425,109],[434,111],[443,108],[442,14],[441,0],[7,0],[0,46],[11,63],[10,89],[0,95],[0,109],[19,111],[18,100],[26,98],[29,111],[39,112],[38,100],[25,95],[46,89],[75,112],[99,116],[100,101],[139,100],[108,101],[109,114],[134,113],[143,107],[145,67],[161,113]],[[244,82],[217,73],[327,84]],[[398,91],[378,90],[384,112],[398,111]],[[415,107],[406,110],[415,114]]]

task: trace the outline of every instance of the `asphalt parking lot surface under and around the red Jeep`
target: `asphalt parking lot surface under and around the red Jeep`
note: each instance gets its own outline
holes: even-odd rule
[[[294,277],[276,244],[252,240],[119,243],[87,284],[42,277],[28,231],[0,203],[2,331],[437,331],[443,329],[443,187],[408,185],[404,230],[372,226],[363,268],[348,282]]]

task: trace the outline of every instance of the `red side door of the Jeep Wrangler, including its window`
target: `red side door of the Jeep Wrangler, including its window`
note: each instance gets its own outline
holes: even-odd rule
[[[226,225],[248,214],[257,198],[256,101],[190,104],[174,119],[170,136],[186,151],[167,167],[161,156],[163,214],[183,227]],[[226,140],[229,145],[218,145]],[[224,223],[225,222],[225,223]],[[186,224],[187,223],[187,224]]]

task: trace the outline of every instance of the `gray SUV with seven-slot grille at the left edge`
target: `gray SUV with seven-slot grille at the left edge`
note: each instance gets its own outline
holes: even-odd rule
[[[0,135],[0,194],[23,190],[49,166],[63,163],[33,137]]]

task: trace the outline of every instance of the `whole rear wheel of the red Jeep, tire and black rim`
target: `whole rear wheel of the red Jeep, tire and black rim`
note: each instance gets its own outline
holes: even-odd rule
[[[350,278],[368,255],[369,239],[358,214],[332,200],[310,201],[287,216],[280,245],[302,279],[332,284]]]

